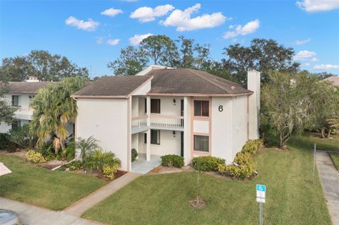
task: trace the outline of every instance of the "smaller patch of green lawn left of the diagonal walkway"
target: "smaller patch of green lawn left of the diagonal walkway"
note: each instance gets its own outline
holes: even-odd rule
[[[105,181],[62,171],[50,171],[24,162],[17,156],[0,154],[11,174],[0,176],[0,196],[61,210],[80,200]]]

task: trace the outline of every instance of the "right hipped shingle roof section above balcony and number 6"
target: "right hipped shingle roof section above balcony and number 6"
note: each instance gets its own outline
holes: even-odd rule
[[[154,75],[149,92],[151,95],[249,95],[252,93],[230,80],[188,68],[157,69],[147,75]]]

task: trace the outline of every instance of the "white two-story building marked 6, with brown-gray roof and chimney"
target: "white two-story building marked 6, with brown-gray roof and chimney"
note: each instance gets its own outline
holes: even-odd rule
[[[133,76],[112,76],[83,87],[76,98],[76,138],[93,136],[131,171],[139,154],[201,155],[232,163],[249,139],[258,138],[260,73],[248,89],[203,71],[151,66]]]

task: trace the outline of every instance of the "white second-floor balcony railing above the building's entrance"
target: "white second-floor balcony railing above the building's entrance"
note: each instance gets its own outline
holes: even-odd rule
[[[132,118],[131,133],[138,133],[144,130],[178,130],[184,131],[184,116],[166,116],[150,115],[150,126],[147,125],[148,115],[137,116]]]

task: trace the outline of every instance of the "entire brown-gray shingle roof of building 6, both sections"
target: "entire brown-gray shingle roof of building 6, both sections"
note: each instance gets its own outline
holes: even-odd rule
[[[146,75],[107,76],[95,80],[72,97],[126,97],[150,79],[148,95],[250,95],[237,83],[203,71],[187,68],[155,69]]]

